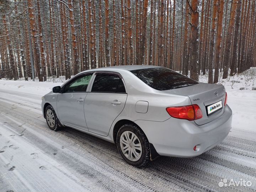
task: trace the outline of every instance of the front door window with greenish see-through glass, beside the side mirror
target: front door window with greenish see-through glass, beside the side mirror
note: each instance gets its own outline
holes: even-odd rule
[[[64,92],[86,92],[92,74],[80,76],[65,86]]]

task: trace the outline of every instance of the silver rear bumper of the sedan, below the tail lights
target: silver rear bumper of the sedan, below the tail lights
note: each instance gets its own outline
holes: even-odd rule
[[[137,120],[159,155],[190,158],[201,155],[222,142],[231,129],[232,111],[225,112],[212,122],[198,126],[194,121],[169,118],[164,122]],[[193,150],[197,145],[196,151]]]

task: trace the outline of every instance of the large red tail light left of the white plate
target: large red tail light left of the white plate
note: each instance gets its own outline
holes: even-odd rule
[[[178,119],[187,119],[189,121],[193,121],[203,117],[200,107],[196,104],[180,107],[167,107],[166,111],[171,117]]]

